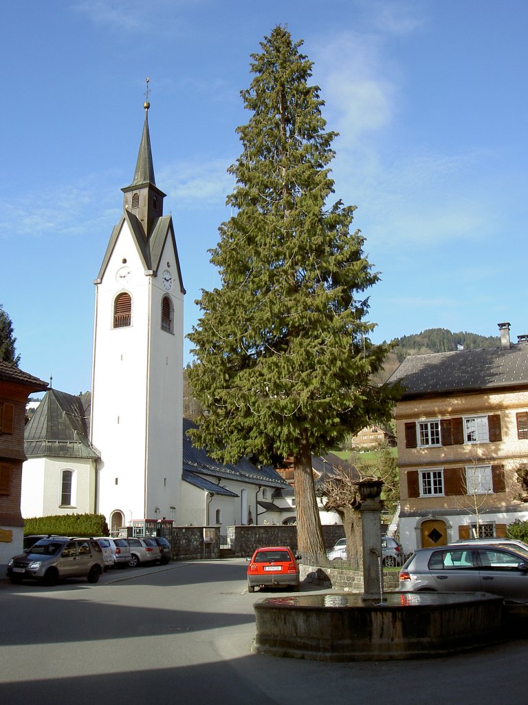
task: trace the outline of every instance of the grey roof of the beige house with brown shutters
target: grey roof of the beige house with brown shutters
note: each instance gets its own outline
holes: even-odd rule
[[[480,389],[528,387],[528,343],[510,348],[476,348],[451,353],[411,355],[387,384],[401,382],[403,399]]]

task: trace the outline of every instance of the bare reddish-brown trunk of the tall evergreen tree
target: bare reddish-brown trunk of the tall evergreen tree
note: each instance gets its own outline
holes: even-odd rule
[[[312,456],[306,431],[303,431],[301,452],[294,455],[294,483],[298,550],[301,554],[322,556],[325,553],[325,544],[322,540],[321,520],[313,484]]]

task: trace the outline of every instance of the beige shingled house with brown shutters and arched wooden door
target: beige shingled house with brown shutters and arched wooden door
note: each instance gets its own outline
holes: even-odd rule
[[[501,346],[407,357],[396,405],[399,534],[406,552],[505,536],[528,520],[528,336]]]

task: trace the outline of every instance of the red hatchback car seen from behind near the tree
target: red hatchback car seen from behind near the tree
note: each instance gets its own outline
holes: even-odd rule
[[[257,548],[253,558],[248,558],[248,592],[256,587],[290,585],[299,589],[298,563],[301,556],[295,556],[289,546],[265,546]]]

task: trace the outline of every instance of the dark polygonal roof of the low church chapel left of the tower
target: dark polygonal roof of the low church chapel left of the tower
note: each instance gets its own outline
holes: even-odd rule
[[[49,389],[24,431],[27,458],[100,458],[89,441],[89,393],[73,396]]]

